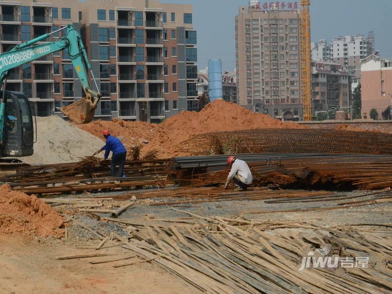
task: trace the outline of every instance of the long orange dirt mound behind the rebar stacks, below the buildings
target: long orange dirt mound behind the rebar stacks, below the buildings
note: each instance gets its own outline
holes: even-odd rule
[[[237,104],[215,100],[200,112],[183,111],[160,124],[126,122],[122,120],[96,121],[78,125],[98,137],[108,128],[112,135],[120,136],[127,149],[142,145],[142,155],[157,150],[158,156],[191,155],[179,152],[179,144],[195,135],[217,131],[235,131],[253,128],[305,128],[297,123],[283,123],[263,114],[254,113]],[[148,141],[148,144],[142,143]]]

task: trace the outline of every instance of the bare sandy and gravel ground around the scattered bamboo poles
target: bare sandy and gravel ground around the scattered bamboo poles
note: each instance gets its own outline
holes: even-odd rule
[[[364,191],[336,192],[347,197],[363,195]],[[121,193],[79,194],[77,197],[111,197]],[[62,198],[62,197],[60,197]],[[70,198],[70,195],[64,196]],[[357,198],[367,200],[368,196]],[[128,209],[118,219],[143,223],[146,215],[153,215],[155,219],[187,218],[187,214],[175,211],[172,206],[150,206],[159,203],[159,198],[144,199]],[[119,201],[121,203],[121,201]],[[339,201],[338,201],[339,202]],[[391,220],[392,203],[368,205],[365,208],[350,208],[308,212],[274,212],[282,210],[306,209],[312,207],[336,206],[335,201],[294,202],[268,204],[264,200],[252,201],[218,201],[204,202],[191,207],[176,205],[176,209],[184,210],[204,217],[243,216],[247,220],[285,220],[306,221],[320,226],[343,226],[346,224],[388,223]],[[67,215],[71,206],[54,206],[57,211]],[[107,217],[105,214],[97,214]],[[89,224],[97,227],[110,226],[112,223],[94,221]],[[118,228],[121,234],[121,228]],[[68,227],[68,236],[61,239],[43,239],[33,236],[0,235],[0,292],[1,293],[201,293],[196,288],[185,283],[182,279],[168,273],[161,268],[141,259],[134,258],[136,264],[114,268],[124,260],[102,264],[90,264],[94,261],[115,260],[131,256],[129,250],[108,242],[99,251],[95,249],[99,241],[91,232],[80,226]],[[57,260],[61,256],[94,254],[110,254],[106,257],[93,257],[71,260]],[[126,261],[126,260],[125,260]]]

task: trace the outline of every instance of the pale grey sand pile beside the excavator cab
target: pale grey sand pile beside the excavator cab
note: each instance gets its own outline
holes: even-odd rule
[[[21,160],[31,165],[78,161],[93,155],[105,143],[57,116],[37,117],[34,154]]]

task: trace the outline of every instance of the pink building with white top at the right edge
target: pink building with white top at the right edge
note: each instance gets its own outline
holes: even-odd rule
[[[361,60],[362,118],[370,119],[370,110],[375,108],[378,119],[392,98],[392,60],[375,54]]]

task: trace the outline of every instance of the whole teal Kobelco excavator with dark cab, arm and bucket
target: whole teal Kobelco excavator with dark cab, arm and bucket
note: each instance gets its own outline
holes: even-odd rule
[[[62,37],[45,42],[49,36],[67,30]],[[21,92],[5,91],[11,69],[42,58],[59,50],[67,50],[86,97],[62,107],[61,112],[75,123],[90,123],[101,98],[82,38],[72,24],[16,45],[0,54],[0,158],[23,157],[33,154],[34,130],[29,100]],[[89,85],[90,71],[97,90]]]

